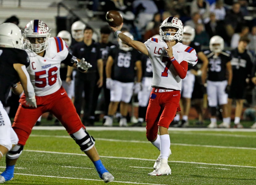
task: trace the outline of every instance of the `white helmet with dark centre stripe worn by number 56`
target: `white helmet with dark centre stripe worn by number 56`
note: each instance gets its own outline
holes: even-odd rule
[[[41,20],[35,19],[27,23],[24,29],[25,45],[28,49],[35,53],[41,53],[48,47],[48,38],[50,30],[48,26]],[[42,43],[35,43],[35,39],[43,38]]]

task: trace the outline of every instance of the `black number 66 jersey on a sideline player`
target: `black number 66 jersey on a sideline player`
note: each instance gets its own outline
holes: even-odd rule
[[[132,49],[130,51],[123,51],[118,46],[111,47],[109,56],[114,60],[111,77],[113,80],[121,82],[134,82],[135,77],[135,62],[140,61],[141,54]]]

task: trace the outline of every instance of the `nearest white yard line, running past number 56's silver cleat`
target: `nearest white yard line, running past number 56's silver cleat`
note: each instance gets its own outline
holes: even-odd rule
[[[51,177],[51,178],[60,178],[60,179],[79,179],[79,180],[92,180],[92,181],[102,181],[100,179],[84,179],[84,178],[74,178],[74,177],[60,177],[52,175],[34,175],[34,174],[25,174],[25,173],[14,173],[15,175],[27,175],[27,176],[37,176],[37,177]],[[137,182],[127,182],[127,181],[111,181],[115,183],[126,183],[126,184],[148,184],[148,185],[166,185],[166,184],[152,184],[152,183],[137,183]]]

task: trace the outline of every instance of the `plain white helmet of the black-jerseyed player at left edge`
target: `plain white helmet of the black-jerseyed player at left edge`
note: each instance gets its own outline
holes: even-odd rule
[[[16,24],[7,22],[0,25],[0,47],[20,48],[22,43],[22,33]]]

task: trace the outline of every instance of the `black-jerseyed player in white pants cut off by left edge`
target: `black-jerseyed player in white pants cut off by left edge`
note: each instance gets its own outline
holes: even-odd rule
[[[29,59],[27,53],[19,49],[21,44],[22,33],[18,26],[13,23],[0,25],[0,160],[19,140],[3,108],[7,103],[10,87],[14,93],[16,89],[24,89],[25,104],[36,107],[35,92],[26,70]],[[19,81],[22,86],[17,84]],[[0,183],[1,181],[0,176]]]

